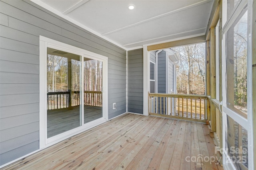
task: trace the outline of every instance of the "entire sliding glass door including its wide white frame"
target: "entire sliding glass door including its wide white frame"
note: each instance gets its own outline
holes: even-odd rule
[[[40,36],[39,146],[108,120],[108,58]]]

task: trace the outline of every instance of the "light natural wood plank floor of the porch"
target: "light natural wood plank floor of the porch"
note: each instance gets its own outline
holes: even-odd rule
[[[191,162],[192,156],[202,160]],[[214,143],[205,124],[124,114],[3,169],[222,169],[205,161],[210,156],[214,156]]]

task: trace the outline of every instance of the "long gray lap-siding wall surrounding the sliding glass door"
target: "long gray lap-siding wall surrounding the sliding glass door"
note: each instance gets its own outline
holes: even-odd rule
[[[108,57],[108,117],[126,112],[126,50],[33,2],[1,1],[0,165],[39,148],[39,35]]]

